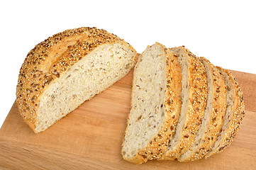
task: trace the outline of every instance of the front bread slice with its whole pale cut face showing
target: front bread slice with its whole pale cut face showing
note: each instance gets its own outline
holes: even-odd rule
[[[134,69],[123,159],[141,164],[165,153],[179,119],[181,89],[177,57],[160,43],[148,46]]]

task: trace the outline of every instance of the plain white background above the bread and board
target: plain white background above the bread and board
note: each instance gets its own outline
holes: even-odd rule
[[[254,1],[1,1],[0,17],[0,127],[27,53],[70,28],[103,28],[140,53],[156,41],[185,45],[213,64],[256,74]]]

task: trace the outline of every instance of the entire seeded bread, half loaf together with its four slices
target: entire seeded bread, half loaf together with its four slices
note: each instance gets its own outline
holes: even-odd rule
[[[230,145],[245,114],[243,92],[226,69],[184,46],[156,42],[138,58],[118,36],[76,28],[40,42],[23,62],[16,103],[24,121],[42,132],[135,65],[123,159],[188,162]]]

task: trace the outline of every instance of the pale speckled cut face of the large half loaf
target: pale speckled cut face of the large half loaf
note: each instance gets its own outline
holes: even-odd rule
[[[135,53],[121,42],[104,44],[69,67],[41,94],[35,131],[45,130],[121,79],[133,67],[134,57]]]

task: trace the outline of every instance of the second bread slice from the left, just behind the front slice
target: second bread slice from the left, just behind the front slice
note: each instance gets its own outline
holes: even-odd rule
[[[207,101],[207,76],[204,64],[185,47],[171,49],[182,69],[182,108],[175,134],[162,160],[174,160],[189,149],[204,116]]]

